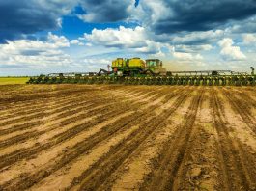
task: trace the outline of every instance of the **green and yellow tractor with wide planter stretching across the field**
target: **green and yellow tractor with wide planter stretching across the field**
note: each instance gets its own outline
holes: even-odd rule
[[[253,67],[250,74],[231,70],[167,71],[159,59],[118,58],[99,72],[50,73],[31,77],[27,83],[255,86],[256,75]]]

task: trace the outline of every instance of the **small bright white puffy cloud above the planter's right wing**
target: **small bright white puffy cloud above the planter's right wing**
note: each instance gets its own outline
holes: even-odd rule
[[[239,46],[233,46],[234,42],[230,38],[218,41],[221,48],[220,55],[226,60],[244,60],[246,56],[242,53]]]

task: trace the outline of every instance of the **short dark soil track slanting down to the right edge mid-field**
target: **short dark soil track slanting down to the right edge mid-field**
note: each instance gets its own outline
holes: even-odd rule
[[[231,95],[228,91],[223,90],[223,94],[228,98],[234,110],[240,114],[244,123],[256,134],[256,119],[255,116],[248,111],[248,107],[244,102]]]

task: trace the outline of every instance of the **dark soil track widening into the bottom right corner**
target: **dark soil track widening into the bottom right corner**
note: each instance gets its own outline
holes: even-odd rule
[[[224,108],[215,90],[212,90],[211,100],[213,123],[218,136],[217,148],[224,181],[222,189],[255,190],[255,161],[251,160],[254,157],[242,149],[242,144],[238,139],[230,136],[229,129],[226,126],[228,123],[225,121],[222,112]]]

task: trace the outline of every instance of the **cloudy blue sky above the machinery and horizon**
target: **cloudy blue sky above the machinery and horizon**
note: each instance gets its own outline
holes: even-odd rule
[[[0,76],[99,71],[132,57],[249,71],[255,53],[255,0],[0,0]]]

